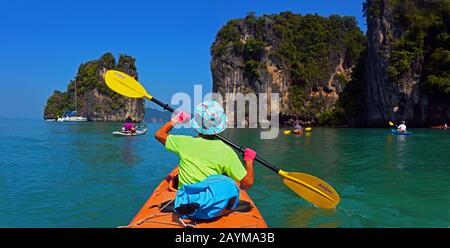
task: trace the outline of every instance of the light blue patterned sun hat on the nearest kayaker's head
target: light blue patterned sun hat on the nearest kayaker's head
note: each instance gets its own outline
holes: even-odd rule
[[[219,134],[227,128],[227,115],[218,102],[206,101],[195,107],[191,126],[201,134]]]

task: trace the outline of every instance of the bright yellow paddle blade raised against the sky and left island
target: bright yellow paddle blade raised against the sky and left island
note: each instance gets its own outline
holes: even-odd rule
[[[116,70],[109,70],[105,74],[106,85],[117,92],[120,95],[141,98],[145,97],[149,100],[152,99],[144,87],[131,76]]]

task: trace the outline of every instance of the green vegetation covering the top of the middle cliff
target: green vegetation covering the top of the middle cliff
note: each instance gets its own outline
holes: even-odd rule
[[[296,85],[311,85],[325,80],[328,75],[323,68],[329,67],[327,58],[336,50],[345,49],[349,60],[356,60],[365,48],[365,36],[358,28],[354,17],[298,15],[283,12],[279,15],[256,17],[254,13],[244,19],[227,23],[217,34],[220,41],[212,47],[212,55],[221,56],[227,46],[241,54],[246,73],[255,75],[266,46],[274,46],[271,56],[289,67],[291,80]],[[270,26],[275,37],[265,30]],[[244,30],[252,30],[253,36],[245,43],[241,40]],[[276,40],[276,41],[275,41]],[[274,41],[277,44],[273,44]]]

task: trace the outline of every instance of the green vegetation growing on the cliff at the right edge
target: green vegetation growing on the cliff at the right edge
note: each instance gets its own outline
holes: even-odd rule
[[[364,4],[368,18],[380,14],[381,0]],[[400,35],[389,34],[393,47],[388,74],[394,83],[420,73],[430,93],[450,94],[450,1],[391,0],[389,7]],[[422,66],[422,68],[420,68]]]

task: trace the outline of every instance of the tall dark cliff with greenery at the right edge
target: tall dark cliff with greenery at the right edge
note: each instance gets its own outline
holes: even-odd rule
[[[386,126],[391,120],[428,126],[450,118],[450,95],[442,87],[450,86],[450,74],[442,72],[450,69],[449,59],[433,65],[439,54],[450,55],[450,39],[439,40],[448,32],[437,31],[450,29],[445,12],[450,8],[439,1],[403,2],[368,0],[364,4],[368,52],[367,115],[363,118],[368,126]],[[433,19],[434,23],[429,22]]]

